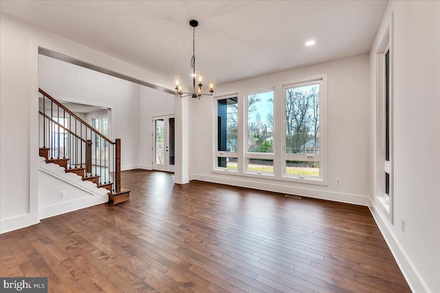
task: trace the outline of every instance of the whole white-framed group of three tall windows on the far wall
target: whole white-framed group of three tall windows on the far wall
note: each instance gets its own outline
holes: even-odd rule
[[[217,97],[214,113],[212,172],[327,185],[327,74]]]

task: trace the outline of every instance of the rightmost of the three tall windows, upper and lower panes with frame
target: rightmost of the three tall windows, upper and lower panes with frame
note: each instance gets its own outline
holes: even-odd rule
[[[324,181],[325,79],[285,86],[283,176]],[[325,123],[325,126],[327,124]]]

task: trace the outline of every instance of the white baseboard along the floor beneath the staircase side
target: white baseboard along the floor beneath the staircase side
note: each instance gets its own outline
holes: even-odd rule
[[[68,202],[62,202],[59,204],[53,204],[49,207],[41,207],[39,209],[40,219],[50,218],[54,215],[61,215],[63,213],[69,213],[71,211],[77,211],[78,209],[85,209],[86,207],[92,207],[96,204],[102,204],[109,201],[109,196],[89,196],[88,198],[77,198]]]

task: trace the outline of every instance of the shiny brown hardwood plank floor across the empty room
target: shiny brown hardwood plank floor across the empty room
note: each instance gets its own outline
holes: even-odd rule
[[[410,292],[369,209],[122,172],[131,200],[0,237],[1,277],[50,292]]]

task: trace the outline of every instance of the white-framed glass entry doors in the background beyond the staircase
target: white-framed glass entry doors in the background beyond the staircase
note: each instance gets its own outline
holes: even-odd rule
[[[174,115],[153,117],[153,169],[174,172]]]

